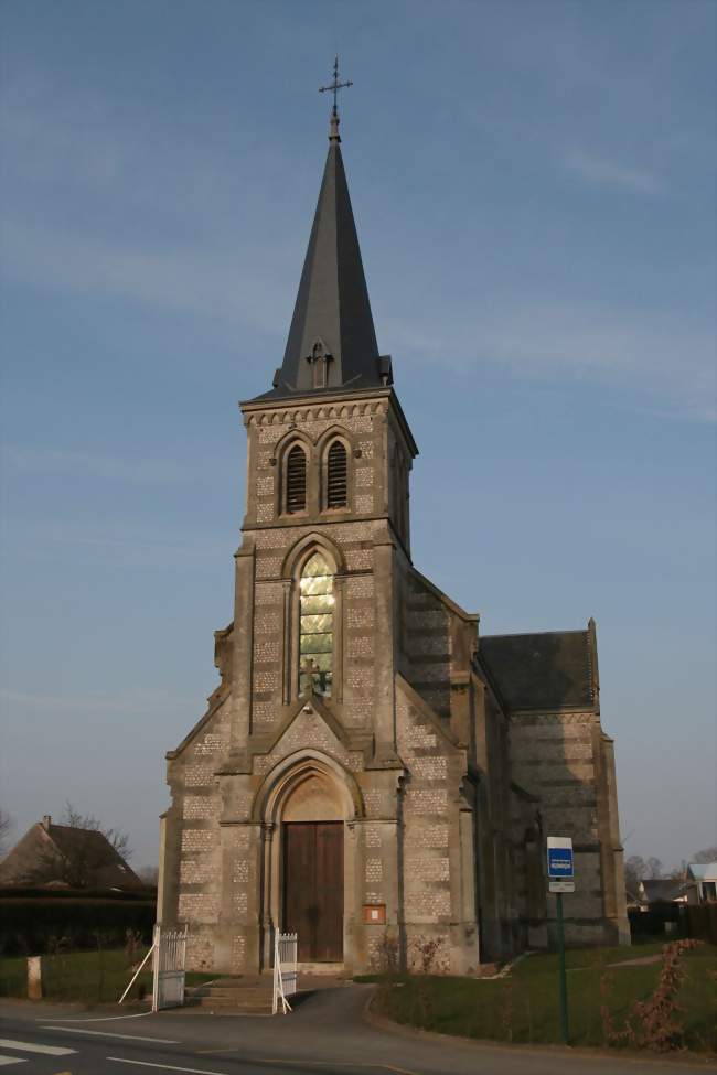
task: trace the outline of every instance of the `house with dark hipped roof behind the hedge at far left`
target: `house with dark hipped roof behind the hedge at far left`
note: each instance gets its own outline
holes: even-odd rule
[[[56,825],[49,814],[31,826],[0,862],[0,885],[145,886],[104,832]]]

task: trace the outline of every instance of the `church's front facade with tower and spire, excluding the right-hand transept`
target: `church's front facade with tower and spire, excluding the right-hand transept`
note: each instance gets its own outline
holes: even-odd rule
[[[430,940],[463,972],[480,958],[478,617],[411,562],[418,450],[376,343],[338,66],[325,88],[283,358],[240,404],[246,505],[221,684],[168,754],[160,913],[188,924],[194,969],[266,970],[277,932],[296,932],[301,964],[370,970],[387,940],[405,959]]]

